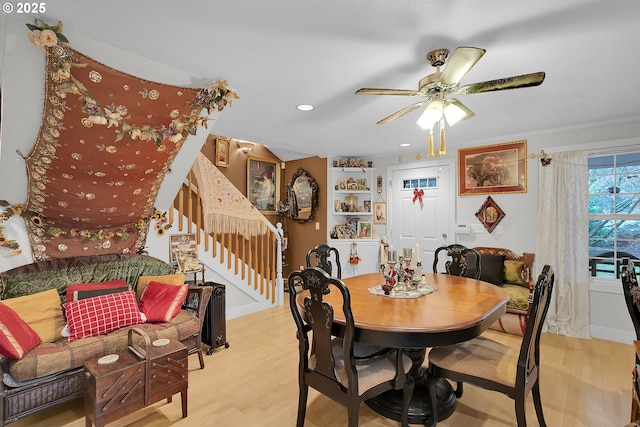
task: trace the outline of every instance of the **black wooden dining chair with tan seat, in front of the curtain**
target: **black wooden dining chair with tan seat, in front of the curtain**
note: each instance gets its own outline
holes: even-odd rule
[[[549,265],[545,265],[538,276],[529,322],[519,348],[480,335],[429,352],[427,384],[433,411],[437,410],[437,379],[448,378],[498,391],[513,399],[518,427],[527,425],[525,399],[531,392],[538,423],[546,427],[540,399],[540,334],[549,309],[554,276]]]

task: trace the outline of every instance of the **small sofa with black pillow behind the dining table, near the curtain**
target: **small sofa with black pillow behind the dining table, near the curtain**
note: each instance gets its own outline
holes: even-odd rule
[[[480,253],[480,280],[501,286],[509,295],[507,312],[490,329],[513,335],[524,335],[533,298],[535,254],[519,255],[509,249],[473,248]],[[473,264],[467,261],[467,264]]]

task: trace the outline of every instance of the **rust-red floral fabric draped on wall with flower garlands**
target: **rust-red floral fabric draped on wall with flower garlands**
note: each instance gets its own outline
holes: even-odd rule
[[[43,117],[26,156],[33,257],[137,252],[171,163],[206,126],[203,109],[237,96],[226,82],[192,89],[137,78],[70,48],[60,23],[27,27],[46,53]]]

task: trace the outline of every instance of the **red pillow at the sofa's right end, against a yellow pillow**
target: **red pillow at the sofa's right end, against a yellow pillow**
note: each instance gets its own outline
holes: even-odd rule
[[[182,308],[187,291],[187,285],[149,282],[140,298],[140,311],[147,322],[170,322]]]

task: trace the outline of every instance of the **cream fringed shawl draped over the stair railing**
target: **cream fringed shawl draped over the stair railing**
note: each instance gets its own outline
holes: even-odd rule
[[[240,234],[245,238],[265,234],[266,219],[207,157],[199,153],[193,165],[200,190],[207,233]]]

